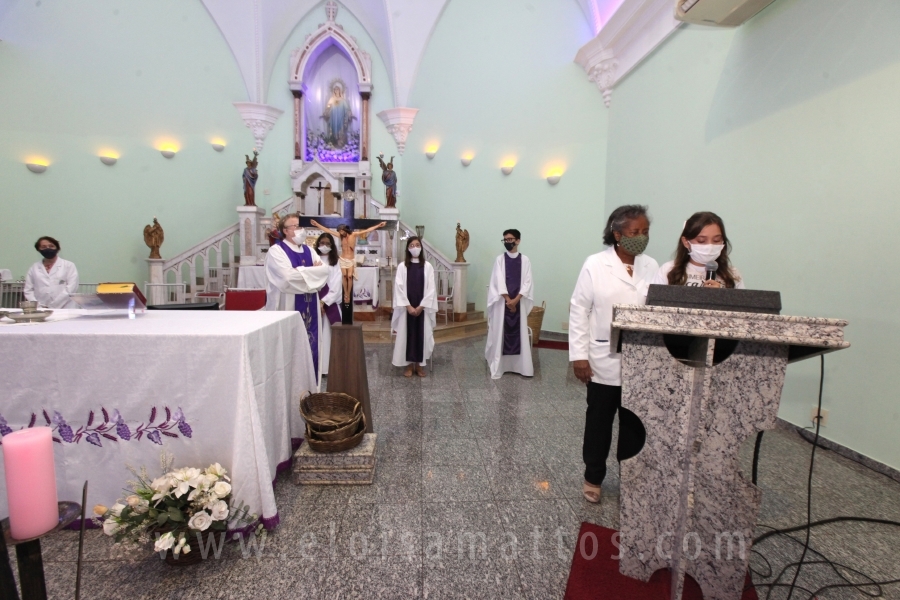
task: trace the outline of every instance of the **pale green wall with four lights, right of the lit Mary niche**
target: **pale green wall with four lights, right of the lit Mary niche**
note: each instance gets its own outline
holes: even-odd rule
[[[547,301],[543,327],[556,331],[584,258],[602,248],[607,112],[573,62],[590,38],[574,1],[449,2],[411,94],[419,113],[399,181],[401,218],[425,225],[451,260],[456,222],[468,229],[469,300],[480,310],[502,232],[519,229],[536,300]],[[431,142],[440,149],[428,160]],[[475,158],[463,167],[466,151]],[[552,187],[544,176],[556,162],[565,174]]]

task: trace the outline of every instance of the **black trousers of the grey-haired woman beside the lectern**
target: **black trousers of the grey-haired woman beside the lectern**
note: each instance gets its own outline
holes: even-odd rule
[[[588,384],[587,413],[584,421],[584,480],[600,485],[606,478],[606,459],[612,445],[612,425],[619,413],[619,443],[616,460],[623,461],[636,456],[647,439],[641,420],[630,410],[622,408],[622,387]]]

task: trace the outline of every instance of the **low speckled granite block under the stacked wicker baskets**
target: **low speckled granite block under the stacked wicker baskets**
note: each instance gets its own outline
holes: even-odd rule
[[[294,453],[297,485],[368,485],[375,479],[376,434],[367,433],[356,448],[343,452],[315,452],[306,443]]]

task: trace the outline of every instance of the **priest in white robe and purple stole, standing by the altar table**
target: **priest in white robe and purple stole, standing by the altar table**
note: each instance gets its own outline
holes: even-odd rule
[[[319,374],[319,290],[328,283],[330,268],[313,256],[300,227],[300,217],[286,216],[279,225],[282,234],[266,255],[266,310],[296,310],[303,317]]]

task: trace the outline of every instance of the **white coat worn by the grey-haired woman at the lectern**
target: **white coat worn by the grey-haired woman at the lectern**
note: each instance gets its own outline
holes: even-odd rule
[[[622,385],[622,356],[609,346],[613,304],[644,304],[647,288],[659,263],[639,254],[634,274],[610,246],[589,256],[581,267],[569,305],[569,360],[587,360],[594,372],[591,381]]]

